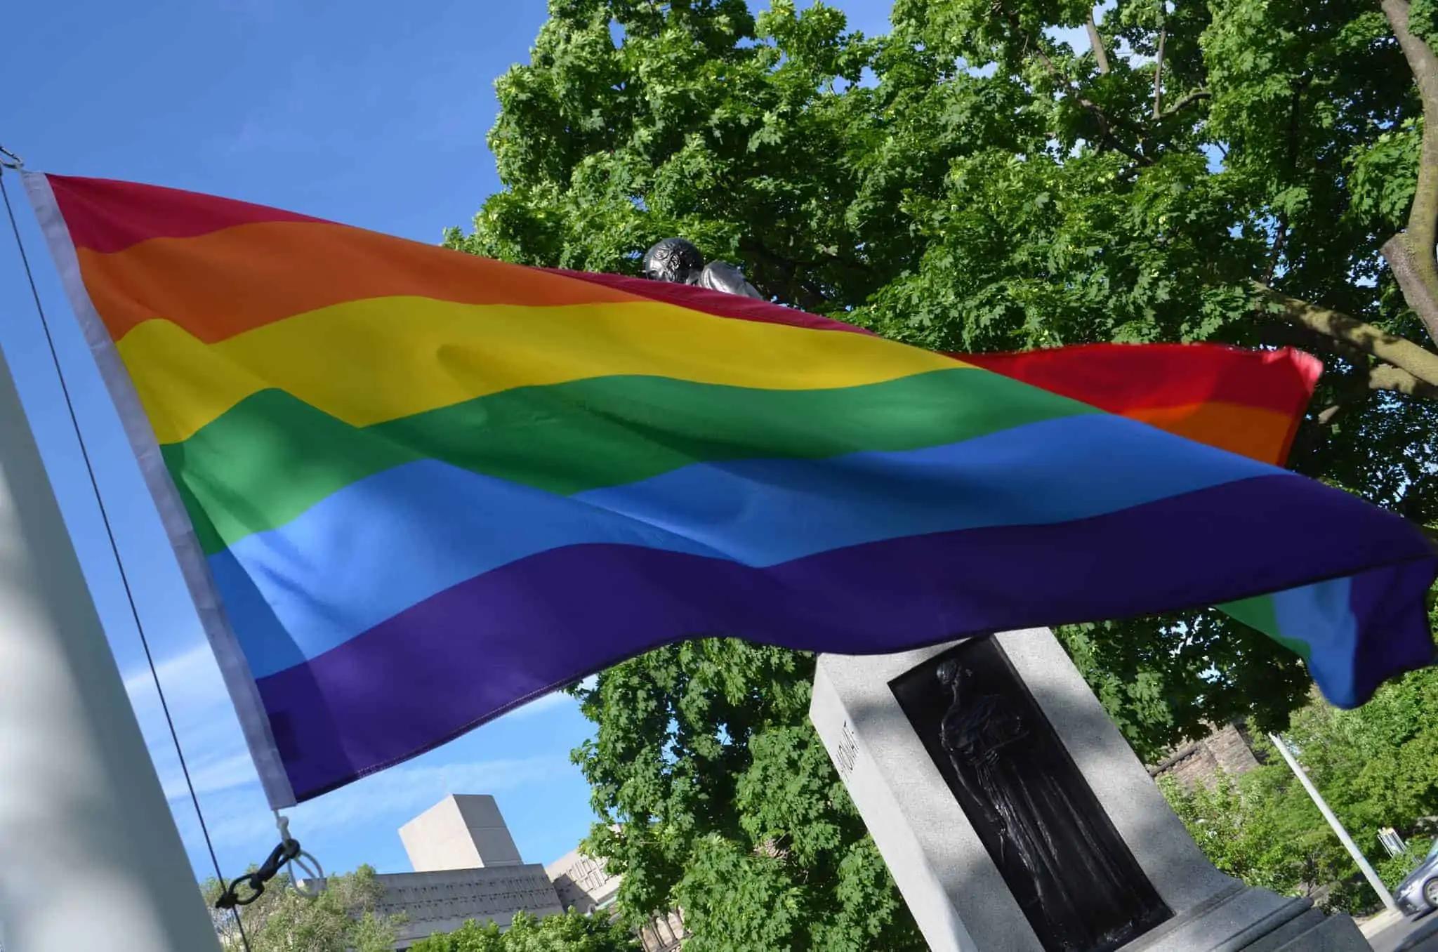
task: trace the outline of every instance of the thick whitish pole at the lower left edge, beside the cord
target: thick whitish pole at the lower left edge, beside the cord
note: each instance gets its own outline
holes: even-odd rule
[[[184,844],[0,355],[6,952],[217,952]]]

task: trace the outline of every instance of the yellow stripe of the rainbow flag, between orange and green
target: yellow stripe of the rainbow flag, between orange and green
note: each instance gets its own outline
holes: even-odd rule
[[[963,365],[877,337],[660,302],[531,308],[371,298],[219,344],[170,321],[147,321],[118,348],[160,443],[188,439],[269,388],[370,426],[513,387],[614,374],[820,390]]]

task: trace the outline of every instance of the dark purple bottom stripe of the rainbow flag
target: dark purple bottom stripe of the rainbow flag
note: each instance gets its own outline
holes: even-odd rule
[[[682,637],[886,653],[1414,562],[1368,572],[1365,588],[1378,600],[1352,605],[1359,641],[1391,644],[1345,653],[1382,664],[1431,650],[1421,592],[1438,571],[1432,551],[1398,516],[1334,496],[1299,476],[1263,476],[1090,519],[887,539],[768,568],[630,545],[549,549],[454,585],[259,687],[295,794],[306,800]],[[1316,511],[1323,521],[1309,518]],[[1217,518],[1235,512],[1247,516],[1241,535],[1232,518]],[[1234,591],[1235,578],[1248,591]],[[1389,605],[1408,613],[1389,617]]]

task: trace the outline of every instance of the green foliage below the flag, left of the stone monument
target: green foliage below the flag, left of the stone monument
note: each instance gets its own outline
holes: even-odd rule
[[[575,751],[638,925],[680,906],[696,949],[922,948],[808,723],[811,656],[720,639],[650,651],[578,690]]]

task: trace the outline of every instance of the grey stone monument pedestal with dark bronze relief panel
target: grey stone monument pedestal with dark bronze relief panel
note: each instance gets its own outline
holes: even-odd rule
[[[1047,628],[820,657],[810,718],[936,952],[1368,952],[1189,838]]]

